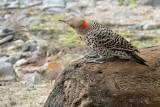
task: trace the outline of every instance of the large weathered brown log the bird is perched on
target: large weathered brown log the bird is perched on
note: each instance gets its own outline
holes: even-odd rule
[[[56,79],[44,107],[160,107],[160,46],[139,55],[149,67],[120,59],[73,62]]]

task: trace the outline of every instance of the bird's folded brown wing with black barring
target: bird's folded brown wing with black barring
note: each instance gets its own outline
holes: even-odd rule
[[[116,33],[110,33],[110,35],[104,35],[103,39],[98,39],[98,47],[109,48],[111,50],[121,50],[127,52],[138,52],[138,49],[134,47],[125,38]]]

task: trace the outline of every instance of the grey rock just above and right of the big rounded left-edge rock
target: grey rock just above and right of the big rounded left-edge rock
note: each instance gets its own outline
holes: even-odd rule
[[[20,53],[12,54],[7,59],[7,62],[15,64],[20,58],[21,58],[21,54]]]

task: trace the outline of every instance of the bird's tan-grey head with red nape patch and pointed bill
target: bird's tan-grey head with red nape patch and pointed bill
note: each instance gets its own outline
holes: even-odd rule
[[[59,21],[68,24],[75,30],[88,28],[88,24],[83,18],[70,18],[69,20],[60,19]]]

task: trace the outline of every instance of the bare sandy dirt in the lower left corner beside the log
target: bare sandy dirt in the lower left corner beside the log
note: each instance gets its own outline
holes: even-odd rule
[[[43,107],[52,90],[51,83],[27,88],[22,82],[0,83],[0,107]]]

